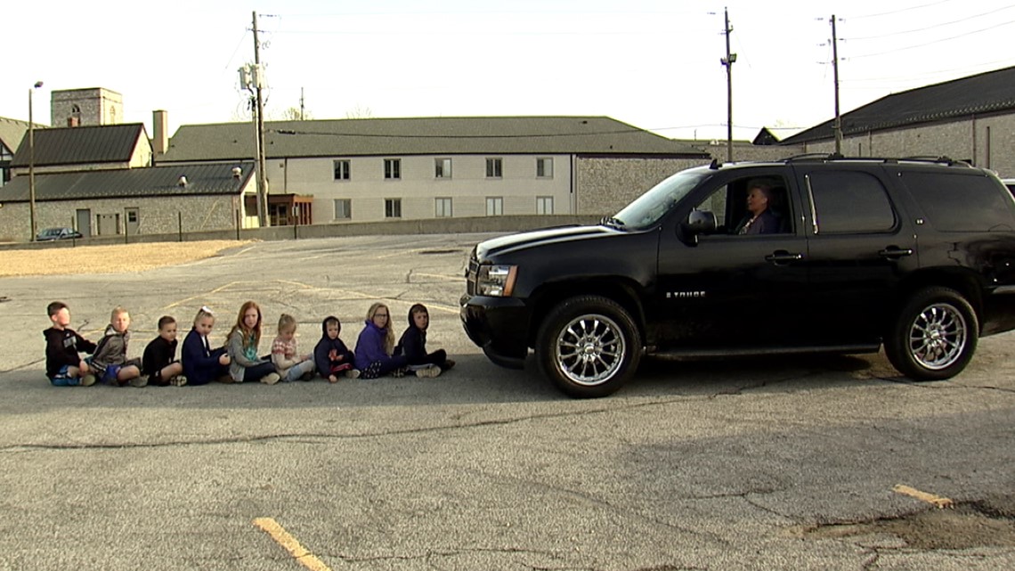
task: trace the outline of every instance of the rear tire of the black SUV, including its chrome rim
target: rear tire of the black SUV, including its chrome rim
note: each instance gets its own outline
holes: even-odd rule
[[[976,351],[979,322],[969,302],[949,288],[916,292],[885,339],[885,354],[915,381],[950,379]]]

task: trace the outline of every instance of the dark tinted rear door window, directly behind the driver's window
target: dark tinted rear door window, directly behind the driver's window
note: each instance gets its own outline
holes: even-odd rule
[[[873,175],[820,171],[807,176],[818,234],[889,232],[895,213]]]

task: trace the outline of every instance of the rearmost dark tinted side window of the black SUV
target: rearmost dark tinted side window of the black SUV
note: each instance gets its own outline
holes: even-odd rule
[[[903,173],[902,182],[942,232],[987,232],[1012,228],[1011,198],[987,177]]]

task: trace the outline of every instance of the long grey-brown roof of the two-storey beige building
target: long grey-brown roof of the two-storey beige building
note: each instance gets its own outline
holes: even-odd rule
[[[706,156],[701,150],[609,117],[431,117],[265,123],[269,158],[412,154]],[[254,155],[251,123],[184,125],[158,163]]]

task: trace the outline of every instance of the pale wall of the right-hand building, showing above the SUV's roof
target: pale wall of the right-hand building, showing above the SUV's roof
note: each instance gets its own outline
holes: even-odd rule
[[[831,152],[832,140],[806,143],[807,152]],[[1015,177],[1015,114],[874,131],[842,139],[847,156],[949,156]]]

